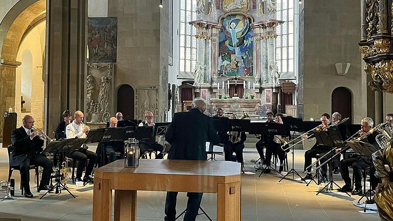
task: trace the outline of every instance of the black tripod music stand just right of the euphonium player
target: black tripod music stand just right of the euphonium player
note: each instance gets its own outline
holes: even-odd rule
[[[251,124],[251,127],[252,126],[253,126],[253,124]],[[268,123],[268,122],[265,122],[265,123],[257,123],[255,126],[257,126],[255,128],[256,130],[252,130],[252,131],[254,131],[254,132],[256,132],[257,134],[260,134],[260,135],[270,135],[270,136],[275,136],[275,135],[287,136],[288,135],[287,127],[285,125],[283,125],[283,124],[280,124],[280,123]],[[250,128],[250,129],[252,129],[252,128]],[[267,156],[268,156],[268,154],[270,154],[268,151],[269,150],[266,149],[266,152],[267,152],[266,155]],[[280,174],[282,176],[282,173],[280,173],[278,170],[276,170],[276,168],[273,168],[271,166],[271,162],[269,161],[269,162],[266,163],[266,167],[262,168],[262,170],[261,170],[261,172],[259,174],[259,177],[266,170],[274,170],[274,171],[276,171],[278,174]]]

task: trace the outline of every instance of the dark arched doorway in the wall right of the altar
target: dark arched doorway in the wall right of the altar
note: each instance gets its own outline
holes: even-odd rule
[[[336,87],[332,92],[332,114],[338,112],[342,119],[350,118],[352,122],[352,92],[346,87]]]

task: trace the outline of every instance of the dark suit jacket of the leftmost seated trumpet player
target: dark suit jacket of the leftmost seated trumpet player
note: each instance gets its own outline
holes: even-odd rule
[[[42,152],[43,140],[35,136],[33,140],[27,135],[23,127],[16,128],[11,132],[12,152],[11,166],[19,166],[28,154],[39,154]]]

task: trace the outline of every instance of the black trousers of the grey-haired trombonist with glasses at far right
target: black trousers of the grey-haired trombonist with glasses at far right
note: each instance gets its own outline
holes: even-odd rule
[[[341,177],[345,182],[345,186],[352,187],[349,167],[351,166],[354,172],[355,189],[362,188],[362,173],[363,169],[369,167],[371,164],[359,156],[347,158],[340,161]],[[371,174],[370,174],[371,175]],[[373,174],[374,176],[374,174]]]

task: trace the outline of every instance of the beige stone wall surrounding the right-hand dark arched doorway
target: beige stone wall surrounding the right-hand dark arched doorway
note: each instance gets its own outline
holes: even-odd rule
[[[355,123],[367,114],[362,76],[360,40],[360,1],[316,0],[304,4],[304,119],[331,113],[331,95],[344,86],[353,94]],[[345,76],[338,76],[337,62],[350,62]]]

